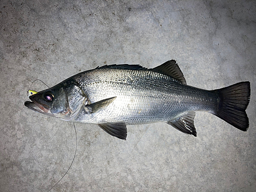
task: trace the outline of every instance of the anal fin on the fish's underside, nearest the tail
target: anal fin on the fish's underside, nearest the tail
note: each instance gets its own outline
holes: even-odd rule
[[[180,117],[178,117],[175,120],[167,121],[168,124],[172,125],[175,129],[186,133],[197,136],[197,131],[194,125],[194,118],[196,113],[193,112],[187,112]]]

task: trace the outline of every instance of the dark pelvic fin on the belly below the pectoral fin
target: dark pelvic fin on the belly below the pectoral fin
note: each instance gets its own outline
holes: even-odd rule
[[[119,139],[126,140],[127,137],[127,129],[126,124],[124,122],[117,122],[117,123],[101,123],[98,124],[102,130],[106,133],[117,137]]]

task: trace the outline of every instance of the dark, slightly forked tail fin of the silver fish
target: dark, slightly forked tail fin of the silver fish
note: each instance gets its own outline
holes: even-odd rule
[[[239,130],[247,131],[249,120],[245,110],[250,101],[250,82],[239,82],[214,92],[219,94],[219,102],[212,114]]]

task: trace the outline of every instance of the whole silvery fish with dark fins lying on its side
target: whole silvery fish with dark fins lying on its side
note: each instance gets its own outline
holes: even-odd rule
[[[175,60],[147,69],[140,65],[105,65],[78,73],[29,96],[27,108],[65,121],[98,124],[126,140],[126,125],[166,122],[197,136],[196,111],[211,113],[247,131],[250,82],[204,90],[188,86]]]

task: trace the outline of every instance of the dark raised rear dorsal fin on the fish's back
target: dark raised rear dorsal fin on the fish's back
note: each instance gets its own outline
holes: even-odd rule
[[[151,70],[155,71],[157,73],[168,75],[168,76],[173,77],[174,79],[182,82],[183,84],[187,84],[186,80],[183,76],[183,73],[181,72],[181,70],[175,60],[168,60],[165,63],[163,63],[161,66],[155,67]]]

